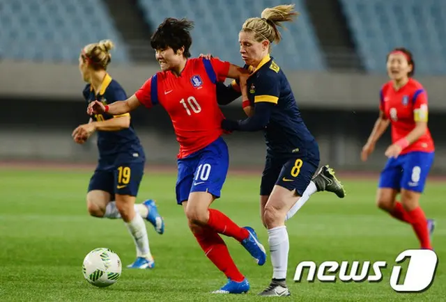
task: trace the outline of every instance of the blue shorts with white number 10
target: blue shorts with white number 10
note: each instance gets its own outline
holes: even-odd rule
[[[187,201],[192,192],[209,192],[215,198],[219,198],[228,168],[228,146],[221,137],[206,148],[178,159],[178,179],[176,180],[178,205]]]

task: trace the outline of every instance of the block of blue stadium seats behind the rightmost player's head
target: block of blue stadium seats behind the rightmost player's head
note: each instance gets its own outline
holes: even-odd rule
[[[413,52],[417,74],[446,74],[444,0],[341,0],[369,72],[385,72],[394,47]]]

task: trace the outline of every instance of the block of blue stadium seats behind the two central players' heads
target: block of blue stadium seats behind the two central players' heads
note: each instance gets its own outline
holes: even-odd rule
[[[282,4],[281,0],[139,0],[139,6],[153,29],[166,17],[187,17],[195,22],[192,56],[211,53],[242,64],[238,32],[245,19],[260,16],[264,8]],[[283,40],[272,47],[272,56],[284,69],[323,70],[325,62],[303,1],[296,3],[301,15],[297,22],[284,24]]]

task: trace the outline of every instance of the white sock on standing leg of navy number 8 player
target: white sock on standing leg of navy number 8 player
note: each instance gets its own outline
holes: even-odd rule
[[[268,244],[273,269],[272,278],[286,279],[290,241],[285,225],[268,230]]]

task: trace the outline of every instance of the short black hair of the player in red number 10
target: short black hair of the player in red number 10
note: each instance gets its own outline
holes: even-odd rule
[[[194,22],[187,19],[166,18],[158,26],[151,37],[151,47],[155,50],[171,47],[174,52],[184,47],[183,55],[190,57],[190,45],[192,37],[190,31],[194,28]]]

